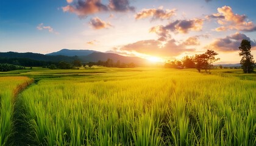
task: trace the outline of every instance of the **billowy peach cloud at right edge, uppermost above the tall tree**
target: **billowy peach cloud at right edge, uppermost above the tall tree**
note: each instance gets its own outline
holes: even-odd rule
[[[225,30],[241,30],[244,32],[253,32],[256,31],[256,26],[252,21],[246,21],[246,15],[235,14],[231,7],[223,6],[219,7],[218,13],[213,15],[207,15],[206,18],[218,19],[218,24],[222,25],[221,27],[216,28],[216,31],[225,31]]]

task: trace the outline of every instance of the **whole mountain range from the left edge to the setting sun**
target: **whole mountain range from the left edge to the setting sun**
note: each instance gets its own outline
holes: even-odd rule
[[[113,53],[104,53],[98,52],[95,50],[69,50],[69,49],[62,49],[57,52],[52,52],[50,54],[37,54],[37,53],[18,53],[18,52],[0,52],[0,58],[27,58],[30,60],[37,60],[37,61],[52,61],[52,62],[59,62],[59,61],[74,61],[80,60],[82,63],[86,62],[97,62],[107,61],[108,58],[112,59],[114,62],[121,61],[122,63],[135,63],[138,66],[144,66],[148,61],[144,60],[143,58],[139,57],[126,57],[118,54]]]

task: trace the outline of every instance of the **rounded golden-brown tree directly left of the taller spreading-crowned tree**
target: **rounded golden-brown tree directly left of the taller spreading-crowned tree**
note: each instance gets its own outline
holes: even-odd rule
[[[201,69],[205,69],[205,71],[207,71],[208,56],[206,54],[196,54],[194,56],[194,63],[198,72],[201,72]]]

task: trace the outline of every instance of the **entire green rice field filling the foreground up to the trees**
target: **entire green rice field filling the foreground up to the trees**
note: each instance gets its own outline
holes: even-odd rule
[[[9,137],[12,145],[256,145],[256,76],[240,69],[35,68],[0,76],[1,125],[6,105],[11,124],[2,145]]]

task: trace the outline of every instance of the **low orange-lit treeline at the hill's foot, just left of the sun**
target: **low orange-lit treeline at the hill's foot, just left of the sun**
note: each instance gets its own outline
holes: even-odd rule
[[[93,65],[98,65],[98,66],[105,66],[105,67],[110,67],[110,68],[135,68],[136,64],[134,63],[123,63],[121,61],[116,61],[114,62],[112,59],[109,59],[107,61],[101,61],[99,60],[98,62],[89,62],[87,63],[89,67]]]

